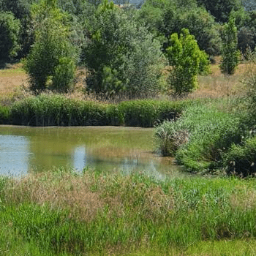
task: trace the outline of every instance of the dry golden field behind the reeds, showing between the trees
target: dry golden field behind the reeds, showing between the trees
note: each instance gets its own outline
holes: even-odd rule
[[[189,99],[230,97],[243,93],[242,80],[244,79],[244,74],[248,72],[250,64],[246,62],[239,64],[235,74],[227,76],[220,72],[219,58],[217,57],[216,59],[217,63],[211,64],[211,73],[199,77],[198,89],[188,95]],[[170,72],[170,67],[165,67],[162,73],[166,76],[168,72]],[[65,96],[72,99],[110,102],[106,95],[99,97],[95,94],[85,93],[86,75],[86,69],[78,67],[74,87]],[[29,92],[28,75],[22,69],[22,64],[7,64],[7,68],[0,69],[0,103],[2,105],[9,105],[10,102],[23,99],[28,94],[31,94]],[[120,102],[126,99],[129,99],[129,97],[122,95],[116,99],[111,99],[111,102]]]

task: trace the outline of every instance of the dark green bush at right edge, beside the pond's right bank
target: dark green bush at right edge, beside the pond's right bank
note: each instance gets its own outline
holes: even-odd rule
[[[225,154],[224,165],[228,174],[254,175],[256,173],[256,137],[247,139],[243,145],[233,144]]]

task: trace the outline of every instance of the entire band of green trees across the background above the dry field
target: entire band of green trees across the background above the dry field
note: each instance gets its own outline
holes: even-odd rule
[[[38,93],[71,89],[81,66],[88,70],[88,91],[133,98],[189,93],[214,56],[222,55],[222,72],[233,74],[239,54],[255,49],[254,1],[116,4],[0,0],[0,61],[23,59],[31,89]]]

